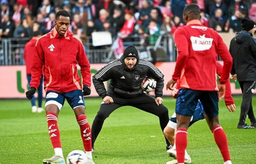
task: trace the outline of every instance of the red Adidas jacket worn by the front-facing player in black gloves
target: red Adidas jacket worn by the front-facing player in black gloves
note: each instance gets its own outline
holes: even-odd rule
[[[81,67],[83,85],[91,86],[90,63],[80,40],[73,37],[69,30],[60,36],[54,27],[48,34],[41,36],[35,45],[32,77],[30,86],[38,88],[42,66],[44,66],[45,91],[53,90],[66,93],[82,90],[76,64]]]

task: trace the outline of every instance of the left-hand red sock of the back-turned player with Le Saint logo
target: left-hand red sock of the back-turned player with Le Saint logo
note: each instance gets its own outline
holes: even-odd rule
[[[185,149],[188,145],[187,129],[177,129],[176,131],[176,152],[178,163],[184,163],[185,160]]]

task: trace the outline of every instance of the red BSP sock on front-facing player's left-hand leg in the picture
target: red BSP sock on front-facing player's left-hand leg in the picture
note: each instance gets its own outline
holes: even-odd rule
[[[58,116],[52,112],[47,112],[46,120],[48,122],[49,136],[52,141],[53,148],[61,148],[60,130],[57,125]]]

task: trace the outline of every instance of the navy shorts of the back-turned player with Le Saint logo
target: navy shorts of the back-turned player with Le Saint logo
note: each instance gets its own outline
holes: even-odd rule
[[[176,114],[182,116],[193,116],[199,99],[207,116],[218,116],[219,99],[217,91],[201,91],[192,89],[180,89],[176,101]]]

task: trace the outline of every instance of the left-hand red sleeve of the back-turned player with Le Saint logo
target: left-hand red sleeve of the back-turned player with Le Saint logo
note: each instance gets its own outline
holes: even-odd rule
[[[185,67],[185,63],[187,62],[189,55],[188,39],[186,37],[185,31],[181,28],[178,28],[174,32],[174,42],[177,47],[178,57],[172,78],[174,80],[178,80],[181,76],[182,69]]]

